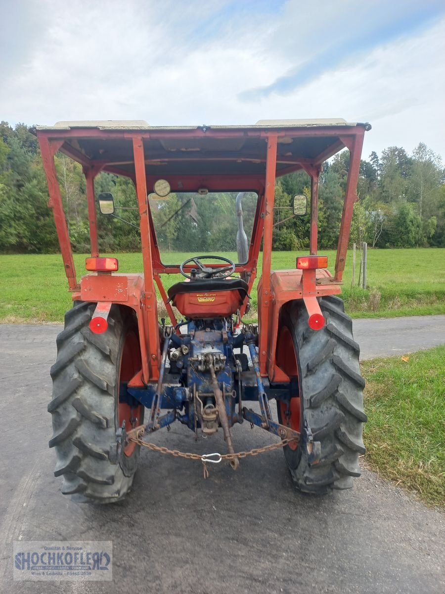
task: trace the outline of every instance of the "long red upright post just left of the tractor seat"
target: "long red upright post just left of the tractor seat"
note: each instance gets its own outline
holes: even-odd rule
[[[148,352],[150,355],[150,379],[159,377],[159,331],[156,293],[153,283],[153,264],[151,260],[150,223],[148,222],[147,179],[145,178],[144,141],[141,137],[133,138],[133,154],[136,173],[136,194],[139,204],[141,223],[142,262],[144,264],[145,293],[144,305],[148,321]]]

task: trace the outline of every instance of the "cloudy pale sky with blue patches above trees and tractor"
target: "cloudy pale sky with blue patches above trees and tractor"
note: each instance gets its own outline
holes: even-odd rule
[[[0,0],[0,119],[369,121],[445,157],[444,0]]]

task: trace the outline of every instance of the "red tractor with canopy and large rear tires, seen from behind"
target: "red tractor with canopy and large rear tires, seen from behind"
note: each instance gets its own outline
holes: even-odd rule
[[[367,129],[368,124],[341,119],[202,127],[58,122],[37,128],[74,301],[57,339],[48,406],[54,431],[49,445],[56,451],[55,475],[63,477],[64,494],[93,503],[125,497],[141,445],[156,448],[144,434],[173,422],[189,426],[196,438],[222,429],[226,453],[186,454],[201,460],[205,470],[206,463],[221,459],[239,465],[245,453],[237,454],[231,428],[247,421],[280,438],[269,449],[283,447],[300,491],[323,494],[352,486],[365,451],[364,380],[352,321],[338,295]],[[328,258],[317,255],[319,176],[322,163],[345,147],[349,172],[332,276]],[[57,151],[80,163],[85,175],[91,257],[80,280],[56,174]],[[309,255],[296,262],[289,258],[286,270],[271,270],[275,178],[298,170],[311,179]],[[115,210],[110,192],[96,199],[100,172],[135,184],[142,272],[120,274],[116,258],[98,252],[97,212],[110,216]],[[297,195],[289,208],[304,215],[306,201]],[[223,214],[233,222],[227,230]],[[200,251],[206,254],[165,263],[171,252],[164,257],[162,245],[171,221],[185,225],[179,239],[187,255],[201,245],[195,243],[198,236],[205,239]],[[217,237],[233,242],[237,255],[223,257]],[[247,324],[243,316],[261,245],[258,325]],[[165,275],[179,273],[185,280],[169,284]],[[170,325],[159,321],[156,286]],[[259,403],[257,412],[244,406],[248,401]]]

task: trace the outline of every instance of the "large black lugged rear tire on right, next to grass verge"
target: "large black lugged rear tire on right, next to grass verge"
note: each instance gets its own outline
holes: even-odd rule
[[[311,330],[301,301],[284,305],[277,347],[278,365],[297,380],[289,409],[277,402],[279,421],[300,431],[302,437],[307,422],[322,450],[320,461],[311,465],[303,437],[299,447],[284,448],[285,458],[297,489],[314,494],[351,488],[352,479],[360,476],[358,457],[365,453],[367,421],[360,347],[352,337],[352,320],[336,296],[320,299],[320,308],[325,327]]]

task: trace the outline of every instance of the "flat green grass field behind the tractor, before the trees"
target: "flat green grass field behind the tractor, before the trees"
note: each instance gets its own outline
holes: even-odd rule
[[[303,253],[303,252],[301,252]],[[321,253],[321,252],[320,252]],[[120,272],[142,271],[141,254],[116,254]],[[235,254],[221,254],[236,258]],[[272,267],[294,268],[297,252],[273,252]],[[323,251],[332,271],[334,251]],[[190,254],[169,254],[178,263]],[[261,259],[261,254],[260,254]],[[74,256],[78,275],[85,272],[85,255]],[[343,298],[352,317],[392,317],[445,313],[445,249],[368,250],[368,286],[351,290],[352,253],[348,252]],[[259,270],[261,260],[259,261]],[[357,271],[358,276],[358,271]],[[168,288],[181,279],[165,276]],[[62,258],[50,255],[0,255],[0,321],[3,323],[61,322],[70,307]],[[256,292],[252,294],[255,315]]]

